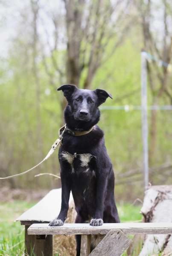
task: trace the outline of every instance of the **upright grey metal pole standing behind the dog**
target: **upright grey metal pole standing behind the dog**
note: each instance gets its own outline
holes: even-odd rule
[[[148,156],[148,117],[147,117],[147,60],[146,52],[141,52],[141,102],[142,102],[142,139],[143,139],[143,171],[145,190],[149,185]]]

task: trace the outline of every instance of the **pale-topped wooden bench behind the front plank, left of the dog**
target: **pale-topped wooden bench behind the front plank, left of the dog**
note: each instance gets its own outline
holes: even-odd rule
[[[70,194],[70,201],[73,201],[72,194]],[[61,188],[51,190],[43,199],[41,199],[36,205],[24,212],[16,219],[20,221],[21,225],[25,226],[25,254],[34,255],[32,253],[32,244],[36,244],[34,251],[36,255],[41,255],[44,251],[44,256],[52,256],[53,240],[52,235],[45,236],[30,236],[27,234],[27,229],[33,223],[49,223],[60,212],[61,208]],[[45,237],[45,239],[43,239]],[[44,249],[44,250],[43,250]]]

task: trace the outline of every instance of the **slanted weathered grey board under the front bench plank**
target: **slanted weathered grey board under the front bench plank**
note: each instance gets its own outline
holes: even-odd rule
[[[131,244],[129,239],[120,229],[110,230],[90,256],[120,256]]]

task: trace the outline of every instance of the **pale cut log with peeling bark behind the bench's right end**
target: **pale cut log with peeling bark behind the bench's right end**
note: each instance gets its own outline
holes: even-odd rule
[[[152,186],[145,192],[144,222],[172,222],[172,186]],[[147,235],[139,256],[172,255],[172,235]]]

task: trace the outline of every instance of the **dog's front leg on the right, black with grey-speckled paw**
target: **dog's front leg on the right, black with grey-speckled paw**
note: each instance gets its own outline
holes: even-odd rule
[[[103,225],[104,198],[107,186],[107,179],[102,175],[97,176],[96,185],[96,211],[94,217],[90,220],[91,226]]]

